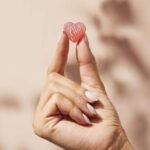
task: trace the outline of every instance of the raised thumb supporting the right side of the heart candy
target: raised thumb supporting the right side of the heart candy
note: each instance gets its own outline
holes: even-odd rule
[[[95,58],[89,47],[87,35],[77,44],[76,58],[79,64],[82,86],[100,88],[101,91],[105,92],[99,77]]]

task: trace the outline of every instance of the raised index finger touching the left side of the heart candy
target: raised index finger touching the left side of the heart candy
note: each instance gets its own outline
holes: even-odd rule
[[[59,74],[64,74],[64,67],[67,62],[69,51],[69,40],[65,33],[61,35],[58,41],[56,52],[48,68],[48,75],[52,72],[57,72]]]

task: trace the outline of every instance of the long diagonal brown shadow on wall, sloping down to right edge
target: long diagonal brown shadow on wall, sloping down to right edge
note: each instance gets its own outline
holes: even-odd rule
[[[145,79],[150,78],[150,72],[147,70],[140,57],[135,53],[129,40],[119,39],[115,36],[101,36],[100,40],[110,47],[115,47],[113,50],[116,51],[117,59],[126,58],[127,61],[132,62],[134,66],[139,70],[139,73]]]

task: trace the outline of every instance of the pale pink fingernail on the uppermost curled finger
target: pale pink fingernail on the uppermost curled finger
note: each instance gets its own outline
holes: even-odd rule
[[[91,103],[99,100],[96,92],[93,92],[93,91],[86,91],[85,96],[88,98],[89,102]]]

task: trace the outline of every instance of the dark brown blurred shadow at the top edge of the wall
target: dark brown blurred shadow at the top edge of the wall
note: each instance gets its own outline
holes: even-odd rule
[[[134,17],[128,0],[108,0],[101,6],[107,17],[114,18],[118,23],[133,23]]]

